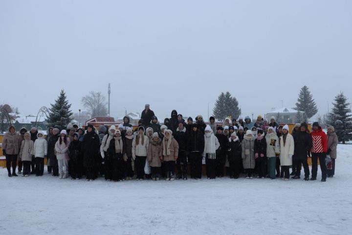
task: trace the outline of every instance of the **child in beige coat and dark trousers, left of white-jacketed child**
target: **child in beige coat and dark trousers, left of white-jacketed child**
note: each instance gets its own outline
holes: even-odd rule
[[[21,144],[20,150],[20,159],[23,163],[23,175],[22,176],[29,176],[30,175],[30,167],[32,162],[32,157],[34,156],[34,143],[30,139],[31,136],[29,132],[24,134],[24,140]]]

